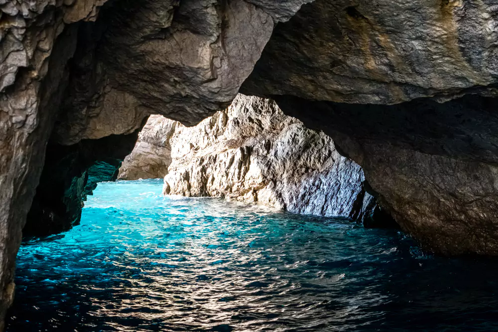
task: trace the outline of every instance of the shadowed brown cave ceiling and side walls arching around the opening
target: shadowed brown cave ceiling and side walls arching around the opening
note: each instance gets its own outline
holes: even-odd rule
[[[123,138],[152,113],[193,125],[243,83],[331,135],[425,246],[498,254],[493,1],[2,0],[0,11],[0,318],[49,137]]]

